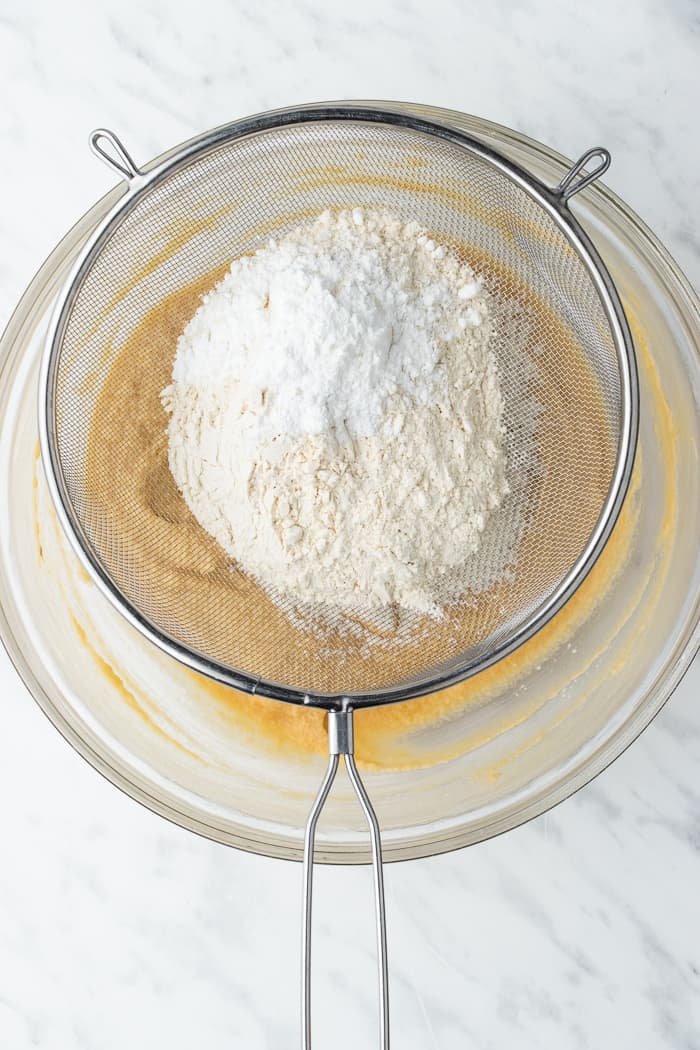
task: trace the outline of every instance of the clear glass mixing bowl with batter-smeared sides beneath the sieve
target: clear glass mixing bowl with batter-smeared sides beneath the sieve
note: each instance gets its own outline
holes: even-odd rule
[[[403,108],[481,138],[550,184],[567,167],[486,121]],[[59,244],[0,343],[0,630],[45,713],[114,784],[192,831],[300,859],[324,757],[284,746],[281,713],[277,743],[255,731],[254,706],[266,705],[270,722],[275,701],[227,697],[150,647],[85,576],[46,492],[36,405],[47,318],[76,253],[121,192],[107,194]],[[574,207],[648,346],[633,542],[614,583],[613,562],[611,586],[599,587],[546,658],[473,679],[470,701],[449,717],[422,723],[408,711],[394,757],[384,761],[379,748],[366,781],[389,861],[476,842],[559,802],[651,721],[698,648],[700,304],[654,235],[609,190],[596,185]],[[358,714],[358,731],[370,715]],[[339,783],[319,827],[318,859],[364,862],[365,838],[349,788]]]

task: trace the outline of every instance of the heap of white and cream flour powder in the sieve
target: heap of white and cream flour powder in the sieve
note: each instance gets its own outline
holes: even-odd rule
[[[416,224],[324,213],[236,259],[181,336],[175,482],[276,600],[440,615],[508,492],[490,334]]]

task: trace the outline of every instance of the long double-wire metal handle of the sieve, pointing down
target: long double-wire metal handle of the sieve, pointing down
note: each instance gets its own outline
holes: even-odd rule
[[[311,917],[314,889],[314,845],[316,825],[336,779],[340,755],[345,760],[347,776],[358,798],[369,827],[372,864],[375,878],[375,907],[377,911],[377,951],[379,962],[379,1022],[381,1050],[389,1050],[389,986],[386,956],[386,907],[384,903],[384,872],[382,868],[382,842],[379,821],[369,796],[355,764],[353,709],[328,712],[328,764],[318,795],[309,814],[303,847],[303,918],[301,926],[301,1045],[311,1050]]]

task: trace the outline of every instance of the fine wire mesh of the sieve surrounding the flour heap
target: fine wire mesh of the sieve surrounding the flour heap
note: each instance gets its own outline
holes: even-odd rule
[[[511,494],[452,581],[443,621],[399,626],[387,609],[348,624],[325,610],[317,630],[194,524],[167,469],[158,394],[178,332],[233,257],[326,208],[357,206],[417,220],[483,275]],[[620,348],[590,266],[487,158],[416,127],[331,119],[194,151],[107,228],[51,354],[52,465],[92,563],[186,655],[289,698],[377,702],[484,666],[575,570],[615,483]],[[493,585],[474,592],[489,565]]]

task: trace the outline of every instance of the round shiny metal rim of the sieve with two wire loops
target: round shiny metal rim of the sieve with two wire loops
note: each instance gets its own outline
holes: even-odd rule
[[[437,675],[427,681],[415,684],[409,687],[396,688],[378,693],[353,693],[342,697],[288,689],[228,668],[209,659],[203,653],[182,645],[145,617],[125,597],[120,588],[115,586],[111,576],[105,571],[91,549],[89,540],[85,536],[80,521],[73,511],[68,496],[57,447],[55,426],[56,375],[63,336],[71,307],[103,244],[131,212],[144,194],[150,192],[166,177],[184,167],[193,156],[206,155],[227,142],[252,135],[259,131],[294,124],[323,123],[330,121],[383,123],[447,140],[486,161],[533,198],[554,220],[579,258],[584,261],[598,293],[615,343],[617,363],[620,372],[621,408],[621,426],[616,449],[615,471],[598,521],[576,563],[560,581],[558,587],[549,598],[537,607],[530,618],[503,644],[494,647],[484,656],[473,659],[471,663],[467,663],[449,673]],[[98,151],[102,152],[99,146],[97,146],[98,134],[104,133],[96,132],[92,138],[92,145],[93,148],[97,147]],[[112,144],[114,142],[119,149],[121,144],[116,140],[113,140]],[[592,182],[594,177],[597,177],[598,174],[606,170],[610,160],[607,152],[600,149],[589,151],[585,158],[581,158],[581,162],[574,165],[559,186],[553,189],[546,186],[518,165],[507,160],[497,151],[462,131],[413,118],[407,113],[355,105],[331,105],[287,110],[283,112],[267,112],[235,121],[190,140],[183,147],[166,156],[164,161],[150,165],[146,170],[136,168],[128,153],[123,150],[123,147],[121,149],[122,152],[119,155],[122,163],[114,164],[112,162],[112,166],[116,167],[128,178],[128,187],[124,195],[107,213],[86,243],[57,300],[46,337],[46,348],[42,357],[39,382],[40,446],[51,499],[61,525],[73,550],[92,581],[109,602],[142,634],[158,646],[158,648],[194,671],[247,693],[325,709],[341,709],[348,704],[352,707],[370,707],[398,702],[448,688],[485,670],[532,637],[559,611],[595,564],[619,514],[634,465],[639,420],[639,390],[632,335],[614,282],[593,243],[579,226],[576,218],[571,214],[568,205],[569,198],[575,192],[582,189],[585,185],[588,185],[589,182]],[[603,160],[602,165],[595,172],[576,181],[584,167],[585,160],[596,154],[603,155],[607,160]]]

